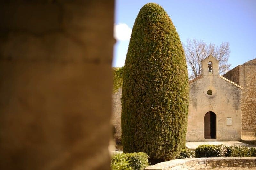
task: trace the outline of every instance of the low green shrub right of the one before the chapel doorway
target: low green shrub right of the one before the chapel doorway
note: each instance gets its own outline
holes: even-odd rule
[[[227,156],[229,157],[248,157],[249,149],[245,146],[229,146]]]

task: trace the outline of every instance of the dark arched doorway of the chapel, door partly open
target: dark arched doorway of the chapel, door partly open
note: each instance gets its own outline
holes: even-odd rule
[[[204,138],[216,139],[216,114],[212,111],[204,116]]]

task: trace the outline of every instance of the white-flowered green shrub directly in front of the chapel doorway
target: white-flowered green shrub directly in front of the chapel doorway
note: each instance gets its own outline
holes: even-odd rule
[[[195,157],[224,157],[227,154],[225,145],[199,145],[195,150]]]

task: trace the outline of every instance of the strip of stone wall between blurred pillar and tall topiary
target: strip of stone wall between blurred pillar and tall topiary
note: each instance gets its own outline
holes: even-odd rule
[[[122,88],[119,88],[116,93],[112,95],[112,124],[116,129],[114,139],[116,142],[121,142],[121,111],[122,111]]]

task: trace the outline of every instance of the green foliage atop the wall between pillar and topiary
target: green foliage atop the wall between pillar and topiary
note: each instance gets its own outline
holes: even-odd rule
[[[117,90],[122,86],[123,84],[123,67],[113,67],[112,68],[112,76],[113,76],[113,93],[117,92]]]

